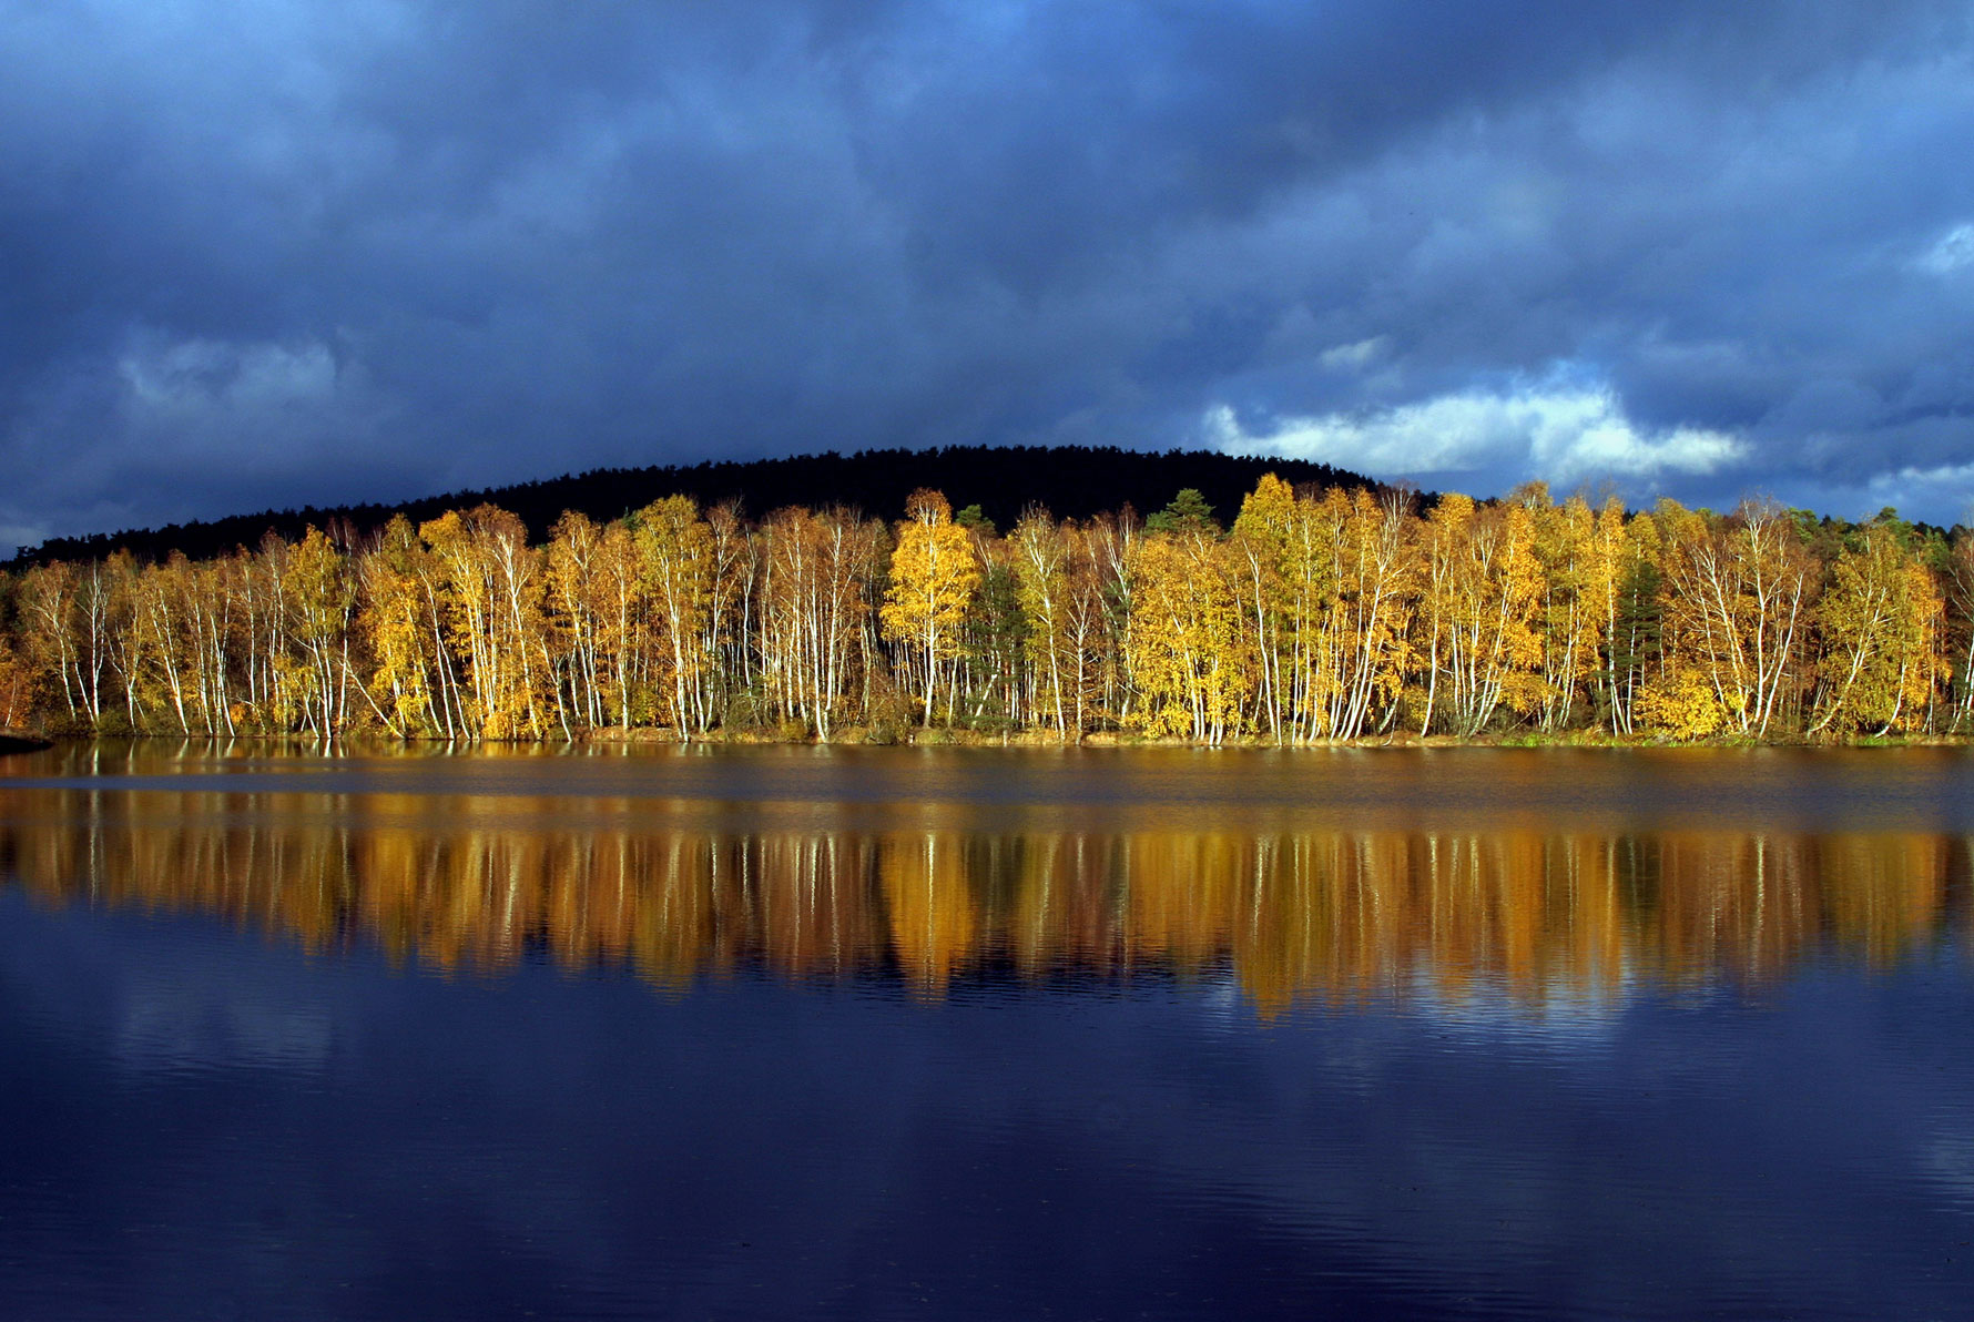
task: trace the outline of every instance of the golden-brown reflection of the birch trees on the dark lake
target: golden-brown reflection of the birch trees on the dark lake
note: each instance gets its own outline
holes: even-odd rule
[[[308,949],[499,971],[529,947],[687,987],[896,971],[918,994],[1232,969],[1263,1014],[1429,987],[1759,983],[1836,941],[1891,963],[1966,927],[1938,835],[644,829],[420,795],[0,793],[0,870],[57,902],[205,912]]]

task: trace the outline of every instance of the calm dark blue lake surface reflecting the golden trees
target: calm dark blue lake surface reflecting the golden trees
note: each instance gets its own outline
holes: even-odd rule
[[[0,1316],[1974,1316],[1960,752],[0,760]]]

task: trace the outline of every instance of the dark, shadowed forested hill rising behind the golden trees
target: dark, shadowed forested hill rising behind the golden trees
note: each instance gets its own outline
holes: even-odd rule
[[[1263,474],[1279,474],[1293,485],[1366,487],[1370,477],[1329,464],[1303,460],[1244,458],[1212,452],[1167,452],[1082,448],[1082,446],[965,446],[946,450],[859,450],[857,454],[809,454],[788,460],[719,462],[691,468],[598,468],[586,474],[525,481],[511,487],[452,491],[399,505],[332,505],[270,509],[162,529],[101,533],[95,537],[55,537],[26,547],[16,566],[49,560],[97,560],[128,549],[140,560],[162,560],[184,551],[193,560],[227,554],[235,547],[259,547],[266,533],[296,541],[310,525],[349,527],[357,535],[379,529],[391,515],[413,523],[436,519],[448,509],[492,503],[517,513],[535,537],[543,537],[565,509],[592,519],[618,519],[663,495],[691,495],[701,505],[738,499],[748,515],[764,515],[786,505],[847,505],[869,515],[894,519],[904,497],[918,487],[936,487],[955,509],[979,505],[1001,527],[1009,527],[1028,505],[1044,505],[1058,519],[1088,519],[1121,509],[1161,509],[1180,487],[1198,489],[1222,519],[1232,519],[1242,497]]]

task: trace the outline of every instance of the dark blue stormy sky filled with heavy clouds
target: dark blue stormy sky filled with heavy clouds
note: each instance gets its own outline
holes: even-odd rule
[[[1974,0],[0,0],[0,552],[1224,448],[1974,523]]]

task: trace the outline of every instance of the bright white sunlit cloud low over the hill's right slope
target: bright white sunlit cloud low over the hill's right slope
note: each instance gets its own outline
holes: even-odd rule
[[[1230,406],[1216,404],[1204,426],[1208,442],[1230,454],[1279,454],[1388,476],[1516,468],[1571,483],[1711,474],[1747,454],[1747,444],[1727,432],[1638,426],[1609,387],[1559,379],[1461,391],[1382,412],[1277,418],[1265,432],[1250,432]]]

